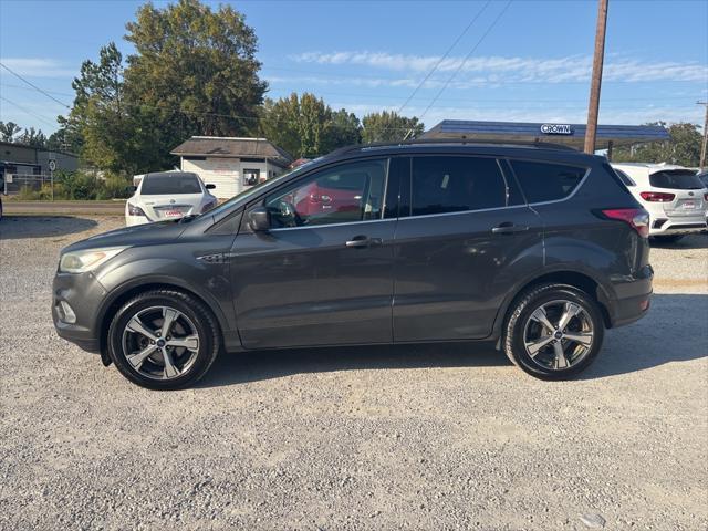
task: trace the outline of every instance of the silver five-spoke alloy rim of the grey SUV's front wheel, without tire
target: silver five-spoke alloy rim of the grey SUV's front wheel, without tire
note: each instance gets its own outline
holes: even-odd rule
[[[140,310],[123,330],[123,355],[135,371],[153,379],[174,379],[188,372],[199,344],[191,320],[170,306]]]

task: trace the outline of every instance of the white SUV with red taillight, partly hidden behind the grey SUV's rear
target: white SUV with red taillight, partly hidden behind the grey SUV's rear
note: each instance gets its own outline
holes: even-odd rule
[[[706,230],[708,189],[694,169],[664,163],[617,163],[612,167],[649,212],[652,238],[678,241]]]

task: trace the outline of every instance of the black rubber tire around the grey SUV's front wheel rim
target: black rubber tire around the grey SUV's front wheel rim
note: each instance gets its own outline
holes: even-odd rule
[[[187,322],[194,326],[198,334],[198,348],[192,347],[194,352],[183,351],[190,356],[189,363],[183,367],[186,368],[169,379],[158,379],[157,376],[149,377],[144,374],[144,371],[136,369],[128,362],[127,353],[125,353],[124,348],[124,336],[128,333],[126,331],[128,322],[140,312],[149,312],[152,309],[160,306],[179,312],[179,319],[188,320]],[[169,391],[188,387],[201,378],[216,360],[221,341],[218,323],[211,311],[201,301],[187,293],[165,289],[140,293],[126,302],[111,321],[107,345],[108,355],[123,376],[134,384],[148,389]],[[159,352],[165,351],[160,350]],[[162,354],[157,355],[162,356]],[[150,361],[152,357],[147,360]],[[178,357],[173,358],[170,355],[170,364],[173,360],[177,362]],[[164,361],[163,365],[166,365]],[[159,368],[159,360],[155,364],[150,361],[150,366],[156,367],[155,371],[157,371]],[[142,368],[142,366],[138,368]],[[165,374],[167,374],[166,369]]]

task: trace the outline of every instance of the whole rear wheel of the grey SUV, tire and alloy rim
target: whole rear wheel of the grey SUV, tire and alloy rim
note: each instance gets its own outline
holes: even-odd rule
[[[504,352],[532,376],[574,376],[602,347],[605,329],[600,306],[576,288],[539,285],[522,294],[509,311]]]

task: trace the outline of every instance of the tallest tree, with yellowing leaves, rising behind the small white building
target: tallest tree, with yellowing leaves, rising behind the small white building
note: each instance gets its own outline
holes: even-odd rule
[[[166,152],[194,134],[254,129],[268,84],[258,77],[257,38],[243,14],[230,6],[212,11],[198,0],[164,9],[147,3],[126,29],[136,51],[127,58],[126,88],[153,111]]]

